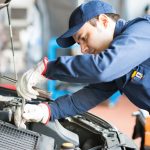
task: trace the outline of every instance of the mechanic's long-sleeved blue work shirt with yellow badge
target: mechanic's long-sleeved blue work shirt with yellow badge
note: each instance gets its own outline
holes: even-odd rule
[[[86,112],[117,90],[150,111],[150,16],[119,19],[108,49],[96,55],[59,57],[48,63],[46,77],[89,84],[50,104],[51,120]]]

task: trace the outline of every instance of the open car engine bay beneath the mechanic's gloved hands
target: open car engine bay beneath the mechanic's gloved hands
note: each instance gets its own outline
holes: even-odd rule
[[[40,141],[40,144],[38,142],[35,143],[38,145],[38,148],[34,149],[40,150],[39,145],[42,145],[42,150],[59,150],[61,149],[61,145],[65,142],[73,143],[78,150],[137,149],[134,142],[123,133],[117,131],[117,129],[108,122],[90,113],[59,119],[54,122],[50,121],[47,125],[27,123],[27,129],[17,129],[12,118],[16,106],[21,105],[21,102],[22,98],[17,96],[15,90],[0,87],[0,120],[2,124],[11,124],[13,126],[11,128],[14,128],[13,131],[19,131],[19,133],[27,131],[31,132],[30,135],[32,135],[32,133],[37,134],[39,139],[42,137],[42,140],[37,140]],[[40,102],[51,103],[52,101],[47,98],[38,97],[38,99],[31,103],[38,104]],[[9,134],[5,134],[5,136],[7,135]],[[10,137],[10,135],[8,137]],[[20,141],[21,139],[18,138],[16,140]],[[1,143],[3,142],[0,142],[0,146]],[[24,145],[25,144],[22,145],[22,148]],[[43,145],[49,145],[49,147],[44,148]]]

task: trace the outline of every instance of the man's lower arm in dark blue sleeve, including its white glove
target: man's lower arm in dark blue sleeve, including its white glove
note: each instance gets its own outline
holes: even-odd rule
[[[59,97],[50,106],[46,103],[26,104],[23,114],[21,108],[15,113],[14,122],[18,127],[25,127],[25,122],[47,124],[49,120],[81,114],[106,100],[116,90],[118,89],[115,82],[92,84],[72,95]]]

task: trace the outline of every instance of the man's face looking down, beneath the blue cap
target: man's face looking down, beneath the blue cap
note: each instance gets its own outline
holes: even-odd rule
[[[83,54],[98,54],[109,47],[113,33],[109,33],[108,26],[105,27],[102,22],[97,22],[95,26],[87,22],[73,38],[80,45]]]

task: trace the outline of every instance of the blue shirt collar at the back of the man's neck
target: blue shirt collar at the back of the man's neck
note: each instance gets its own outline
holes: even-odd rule
[[[125,25],[126,25],[126,21],[123,20],[123,19],[119,19],[116,22],[114,38],[121,33],[121,31],[122,31],[122,29],[124,28]]]

